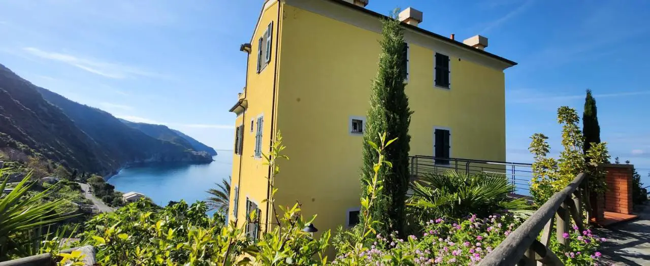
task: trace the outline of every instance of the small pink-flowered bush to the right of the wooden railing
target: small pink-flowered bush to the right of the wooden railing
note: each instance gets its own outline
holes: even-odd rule
[[[598,252],[597,249],[601,243],[606,241],[604,237],[594,235],[589,229],[580,233],[575,225],[571,232],[564,233],[562,237],[569,244],[567,248],[560,245],[554,237],[551,238],[549,248],[564,261],[565,265],[594,265],[601,258],[601,252]]]

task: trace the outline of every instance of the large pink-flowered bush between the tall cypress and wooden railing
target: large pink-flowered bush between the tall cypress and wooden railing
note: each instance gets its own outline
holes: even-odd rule
[[[435,219],[426,222],[424,233],[406,239],[396,233],[376,235],[360,264],[368,265],[476,265],[523,220],[514,215],[490,215],[478,219]],[[339,254],[334,264],[345,264],[350,254]]]

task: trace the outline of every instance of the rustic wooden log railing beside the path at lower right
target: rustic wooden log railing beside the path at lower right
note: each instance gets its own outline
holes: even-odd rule
[[[567,239],[563,234],[570,232],[571,218],[580,233],[584,231],[583,200],[587,206],[590,206],[588,194],[584,190],[586,186],[583,184],[586,180],[586,174],[578,174],[567,187],[551,196],[515,232],[510,233],[497,248],[482,259],[479,265],[564,265],[548,247],[553,222],[556,227],[555,237],[560,245],[567,245]],[[541,237],[538,240],[539,233]]]

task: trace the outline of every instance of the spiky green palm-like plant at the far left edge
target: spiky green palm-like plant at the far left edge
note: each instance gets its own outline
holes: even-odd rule
[[[6,170],[0,169],[0,177],[5,176]],[[75,216],[55,211],[66,204],[66,199],[45,200],[55,186],[28,194],[36,183],[29,182],[30,178],[31,172],[11,192],[0,195],[0,261],[31,255],[34,243],[44,238],[44,226]],[[5,190],[8,179],[8,175],[5,176],[0,191]]]

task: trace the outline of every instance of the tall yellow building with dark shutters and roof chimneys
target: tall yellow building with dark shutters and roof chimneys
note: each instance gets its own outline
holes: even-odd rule
[[[267,0],[247,53],[237,114],[229,219],[259,210],[273,223],[261,153],[283,135],[276,202],[318,214],[319,232],[356,222],[362,132],[382,38],[382,15],[368,0]],[[505,161],[504,70],[516,63],[484,51],[487,38],[458,42],[418,27],[422,13],[400,13],[408,44],[406,93],[414,111],[411,155]],[[442,161],[441,163],[444,163]],[[268,221],[268,222],[267,222]]]

